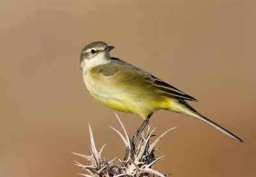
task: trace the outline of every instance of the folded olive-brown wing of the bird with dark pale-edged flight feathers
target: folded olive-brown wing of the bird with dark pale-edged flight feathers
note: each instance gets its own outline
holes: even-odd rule
[[[170,84],[167,84],[157,77],[154,77],[154,75],[151,75],[150,73],[145,72],[140,68],[137,68],[136,66],[126,63],[118,58],[112,58],[111,62],[104,65],[95,66],[92,68],[92,70],[93,72],[101,73],[105,77],[116,77],[115,79],[112,78],[111,81],[122,82],[127,87],[134,86],[140,89],[142,86],[143,88],[150,89],[151,91],[152,89],[157,89],[157,93],[170,98],[197,101],[192,96],[189,96]],[[119,74],[120,72],[122,72],[122,74]]]

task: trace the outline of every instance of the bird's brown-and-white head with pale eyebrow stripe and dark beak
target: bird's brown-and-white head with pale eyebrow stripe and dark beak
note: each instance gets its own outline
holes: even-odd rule
[[[108,63],[111,59],[109,51],[114,48],[104,42],[93,42],[86,45],[80,56],[81,69],[89,69],[93,66]]]

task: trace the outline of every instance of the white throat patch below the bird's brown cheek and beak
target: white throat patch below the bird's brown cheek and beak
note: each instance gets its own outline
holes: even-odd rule
[[[90,70],[90,68],[109,63],[110,60],[111,60],[111,57],[109,56],[109,52],[99,53],[97,54],[97,56],[95,56],[92,59],[84,59],[81,62],[81,68],[83,70],[83,73],[86,73],[88,70]]]

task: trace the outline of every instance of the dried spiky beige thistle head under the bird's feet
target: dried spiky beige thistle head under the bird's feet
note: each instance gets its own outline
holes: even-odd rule
[[[116,115],[118,118],[118,116]],[[108,176],[108,177],[118,177],[118,176],[136,176],[136,177],[143,177],[143,176],[168,176],[170,174],[161,174],[158,171],[154,170],[152,168],[152,165],[156,163],[158,160],[160,160],[162,157],[155,158],[154,156],[154,151],[155,146],[157,142],[170,130],[174,129],[171,128],[170,130],[167,130],[164,132],[164,134],[160,135],[152,144],[149,144],[149,139],[152,137],[152,134],[156,128],[154,128],[152,131],[150,131],[150,126],[148,126],[148,131],[147,135],[144,136],[144,134],[141,134],[141,139],[139,140],[138,146],[132,147],[131,139],[129,137],[129,134],[124,127],[124,124],[120,119],[118,118],[118,121],[120,122],[123,130],[124,130],[124,135],[122,135],[118,130],[113,128],[120,137],[123,139],[125,146],[127,147],[126,154],[125,154],[125,159],[124,160],[119,160],[120,164],[115,165],[113,162],[116,158],[113,160],[105,160],[101,158],[101,153],[102,150],[105,146],[102,146],[100,151],[98,152],[95,147],[95,142],[93,139],[93,134],[92,134],[92,128],[89,125],[89,130],[90,130],[90,139],[91,139],[91,147],[92,147],[92,155],[87,156],[87,155],[82,155],[79,153],[74,153],[76,155],[79,155],[81,157],[86,158],[87,160],[90,160],[92,163],[91,165],[83,165],[80,164],[79,162],[76,162],[76,165],[79,167],[83,167],[83,171],[86,171],[87,174],[81,174],[82,176],[86,177],[102,177],[102,176]]]

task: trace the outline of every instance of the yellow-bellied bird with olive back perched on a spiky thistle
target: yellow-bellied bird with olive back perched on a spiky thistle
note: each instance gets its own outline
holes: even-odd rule
[[[152,114],[164,109],[200,119],[224,134],[242,139],[205,118],[187,101],[195,98],[119,58],[110,56],[115,47],[92,42],[81,51],[80,68],[89,93],[101,104],[117,111],[138,114],[144,120],[132,138],[134,145]]]

